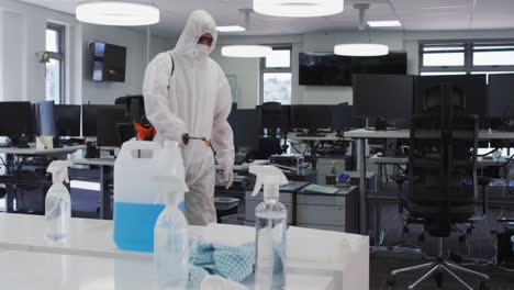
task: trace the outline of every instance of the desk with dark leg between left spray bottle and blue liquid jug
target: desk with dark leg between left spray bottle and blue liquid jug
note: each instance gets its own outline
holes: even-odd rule
[[[92,165],[100,167],[100,219],[111,220],[111,192],[109,191],[109,177],[114,171],[114,157],[82,158],[71,160],[75,165]]]

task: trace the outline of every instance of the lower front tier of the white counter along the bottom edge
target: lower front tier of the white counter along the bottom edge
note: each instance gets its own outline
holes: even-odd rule
[[[336,289],[333,278],[288,268],[287,289]],[[0,252],[2,289],[16,290],[157,290],[152,260]],[[243,282],[252,285],[252,278]]]

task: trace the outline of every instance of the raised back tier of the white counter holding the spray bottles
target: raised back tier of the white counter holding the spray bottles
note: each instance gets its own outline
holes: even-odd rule
[[[236,232],[232,232],[230,237],[227,237],[227,234],[223,231],[217,232],[217,227],[214,227],[217,228],[214,233],[216,233],[217,238],[222,238],[223,241],[227,238],[230,241],[235,241],[235,238],[239,238],[239,235],[246,236],[247,241],[254,239],[255,233],[252,232],[252,227],[235,227]],[[190,236],[206,235],[210,236],[212,241],[212,231],[210,235],[208,228],[209,227],[203,226],[190,226],[189,234]],[[291,228],[292,227],[288,230],[288,268],[303,269],[305,275],[312,272],[322,276],[328,275],[334,278],[333,282],[337,286],[335,289],[368,289],[369,237],[326,231],[317,231],[315,234],[312,234],[309,231],[313,230],[294,227],[295,231],[291,231]],[[309,234],[305,235],[302,231],[308,231]],[[303,234],[299,234],[299,232]],[[128,259],[139,263],[152,261],[152,254],[118,249],[114,245],[112,233],[112,221],[71,219],[70,239],[68,243],[48,243],[44,238],[44,216],[0,213],[1,249],[90,258]],[[324,235],[324,237],[320,235]],[[320,246],[320,243],[328,244]],[[319,245],[319,247],[315,247],[315,245]],[[312,248],[313,246],[314,248]],[[310,252],[304,250],[310,247]],[[2,260],[5,259],[0,258],[0,264]],[[0,269],[0,275],[2,275],[2,272],[3,271]],[[24,277],[26,279],[26,276]],[[14,287],[12,289],[20,288]]]

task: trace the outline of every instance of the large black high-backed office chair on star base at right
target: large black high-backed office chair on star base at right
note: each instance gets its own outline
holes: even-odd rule
[[[480,278],[480,289],[489,287],[487,275],[456,265],[443,253],[444,238],[449,237],[455,225],[476,217],[478,199],[478,118],[465,114],[455,105],[452,90],[447,87],[444,85],[440,96],[431,100],[432,107],[426,113],[413,115],[407,192],[402,197],[407,215],[421,219],[424,230],[437,237],[437,257],[424,265],[393,270],[388,280],[390,286],[400,274],[427,269],[409,289],[429,277],[435,277],[440,287],[443,272],[467,289],[472,288],[455,272]]]

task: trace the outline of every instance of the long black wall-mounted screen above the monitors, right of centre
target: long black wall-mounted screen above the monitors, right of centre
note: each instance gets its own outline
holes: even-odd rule
[[[300,53],[300,86],[351,86],[357,74],[406,75],[406,53],[372,57]]]

